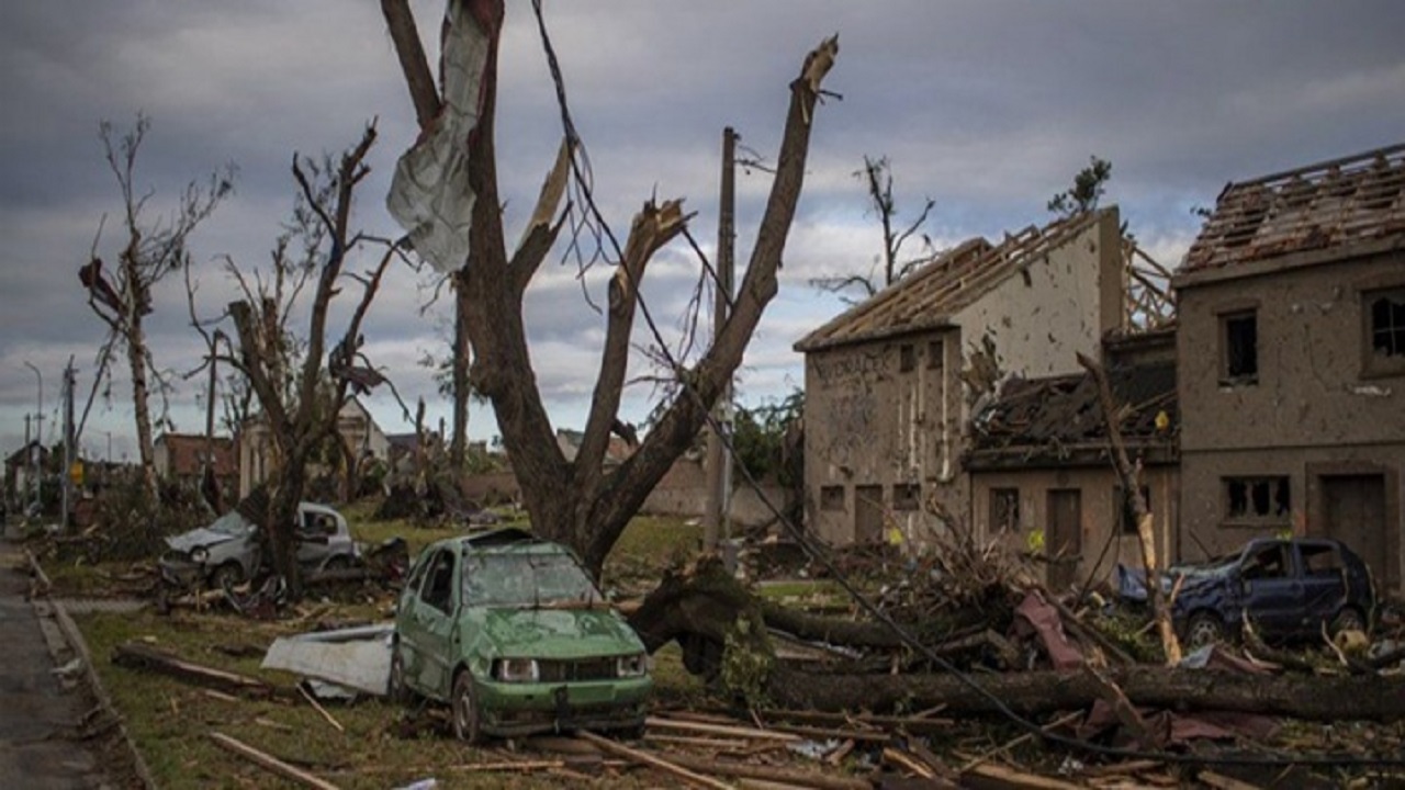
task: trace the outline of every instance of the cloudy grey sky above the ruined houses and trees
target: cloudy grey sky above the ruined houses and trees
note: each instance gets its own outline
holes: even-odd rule
[[[843,305],[816,292],[816,276],[867,271],[881,247],[853,177],[863,156],[887,155],[899,211],[936,201],[927,232],[939,245],[996,238],[1048,219],[1045,202],[1090,155],[1113,162],[1106,201],[1166,264],[1179,264],[1225,181],[1405,139],[1405,4],[1390,0],[1064,1],[1005,0],[545,0],[545,18],[576,127],[594,167],[604,215],[624,233],[649,195],[684,197],[691,229],[715,246],[721,131],[774,160],[787,83],[805,52],[837,31],[826,87],[843,96],[818,112],[808,180],[787,246],[781,295],[740,371],[757,403],[802,381],[790,347]],[[430,56],[440,0],[413,3]],[[374,0],[76,0],[0,6],[0,450],[22,443],[38,410],[58,416],[60,371],[72,357],[79,398],[93,384],[104,325],[74,277],[98,224],[98,253],[115,260],[122,211],[103,159],[98,122],[152,119],[138,163],[148,218],[166,215],[191,179],[239,167],[236,194],[194,235],[202,315],[230,297],[218,260],[261,266],[292,205],[294,152],[354,143],[381,132],[360,193],[358,226],[395,233],[385,193],[395,159],[414,139],[413,111]],[[499,174],[516,238],[561,135],[531,4],[511,0],[499,89]],[[750,250],[769,188],[738,176],[738,260]],[[599,361],[604,271],[577,277],[548,264],[528,298],[537,380],[559,427],[580,427]],[[361,261],[364,266],[367,261]],[[666,250],[645,297],[673,330],[698,264]],[[353,292],[354,288],[348,288]],[[443,353],[447,312],[422,311],[430,278],[393,268],[372,308],[367,351],[431,419],[447,415],[417,364]],[[202,430],[198,363],[184,287],[169,278],[150,318],[153,353],[173,371],[171,417]],[[125,365],[119,365],[125,368]],[[635,375],[649,373],[641,357]],[[648,412],[648,385],[631,387],[627,417]],[[388,432],[407,430],[388,398],[370,401]],[[114,377],[83,437],[101,457],[135,455],[129,385]],[[496,425],[479,409],[471,433]]]

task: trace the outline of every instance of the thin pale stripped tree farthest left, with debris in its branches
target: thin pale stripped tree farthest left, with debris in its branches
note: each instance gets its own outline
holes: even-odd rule
[[[79,280],[87,291],[87,302],[93,312],[108,328],[107,340],[98,351],[98,375],[93,392],[108,381],[110,361],[117,350],[126,356],[128,373],[132,380],[132,415],[136,420],[136,450],[142,465],[142,482],[152,499],[156,496],[156,461],[152,437],[150,389],[156,385],[162,412],[157,423],[166,420],[166,371],[156,365],[150,346],[146,343],[146,316],[152,313],[152,292],[167,274],[190,263],[190,235],[204,222],[219,202],[233,188],[233,167],[214,173],[208,181],[191,181],[181,193],[180,204],[164,218],[149,221],[145,216],[150,191],[136,186],[136,153],[150,128],[150,119],[136,117],[136,125],[121,138],[115,136],[112,124],[104,121],[100,127],[107,164],[117,177],[122,193],[122,229],[126,239],[117,257],[115,270],[104,271],[103,259],[97,256],[101,240],[93,242],[89,263],[79,268]],[[105,219],[105,216],[104,216]],[[91,406],[91,396],[89,405]],[[87,409],[84,409],[84,422]]]

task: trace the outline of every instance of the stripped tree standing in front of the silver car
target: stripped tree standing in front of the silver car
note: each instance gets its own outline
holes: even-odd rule
[[[274,571],[294,597],[302,585],[294,559],[294,529],[298,503],[308,482],[309,464],[329,441],[339,440],[341,406],[357,392],[384,382],[361,353],[361,325],[389,263],[399,247],[386,239],[353,231],[351,204],[357,184],[370,173],[367,152],[375,142],[375,127],[367,127],[361,141],[341,155],[313,162],[294,156],[292,176],[298,202],[289,231],[273,252],[273,271],[242,271],[226,259],[226,268],[239,284],[242,298],[214,320],[195,320],[214,356],[235,367],[249,384],[275,453],[271,464],[266,534]],[[382,247],[365,273],[348,273],[347,259],[357,250]],[[361,285],[361,298],[340,337],[329,339],[330,305],[346,281]],[[311,287],[305,335],[292,330],[301,315],[299,299]],[[194,292],[194,290],[191,291]],[[237,349],[209,328],[225,318],[233,322]]]

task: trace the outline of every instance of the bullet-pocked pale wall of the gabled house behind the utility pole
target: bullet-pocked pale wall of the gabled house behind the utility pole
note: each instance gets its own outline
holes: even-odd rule
[[[881,507],[909,545],[940,529],[934,500],[969,523],[969,481],[961,470],[971,406],[1012,374],[1080,370],[1102,333],[1120,326],[1123,266],[1116,211],[1030,261],[951,326],[811,351],[805,356],[805,513],[822,540],[856,540],[857,489],[881,491]],[[905,351],[910,349],[910,351]],[[902,370],[905,353],[912,370]],[[915,488],[913,488],[915,486]],[[843,489],[843,506],[823,496]],[[899,505],[917,492],[917,507]],[[903,493],[899,498],[899,492]]]

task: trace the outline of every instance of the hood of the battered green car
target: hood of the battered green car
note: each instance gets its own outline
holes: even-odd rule
[[[634,628],[604,607],[479,609],[473,614],[482,617],[483,634],[499,655],[569,659],[643,652]]]

